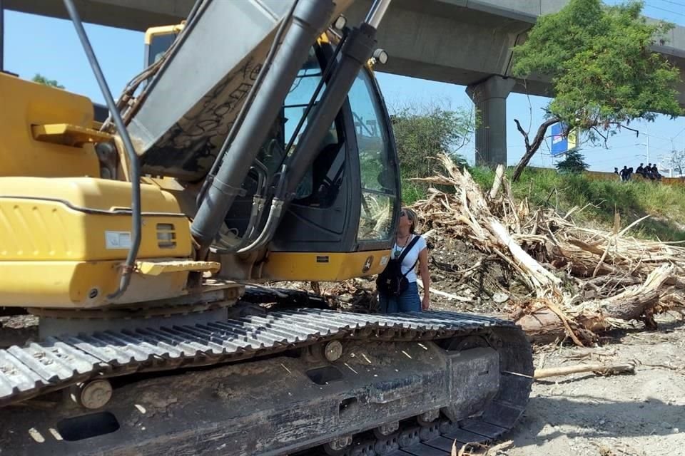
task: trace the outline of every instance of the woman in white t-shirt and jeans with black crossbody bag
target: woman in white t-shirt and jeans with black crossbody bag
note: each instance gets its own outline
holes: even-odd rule
[[[395,312],[417,312],[427,310],[430,304],[428,290],[430,288],[430,274],[428,272],[428,249],[425,239],[415,233],[418,224],[416,212],[412,209],[402,209],[400,223],[397,225],[397,239],[390,252],[390,262],[385,271],[379,276],[378,301],[380,311],[383,314]],[[397,264],[401,261],[401,264]],[[423,299],[419,299],[419,289],[416,283],[416,265],[419,265],[419,273],[423,282]],[[399,267],[393,267],[399,266]],[[395,275],[400,277],[392,277]],[[382,283],[390,283],[392,280],[405,281],[405,286],[400,286],[399,294],[393,293]],[[390,287],[393,288],[392,286]],[[395,287],[397,289],[397,287]]]

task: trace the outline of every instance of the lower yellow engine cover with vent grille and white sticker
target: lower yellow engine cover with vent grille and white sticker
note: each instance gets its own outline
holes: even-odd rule
[[[94,307],[118,286],[131,245],[131,185],[0,177],[0,306]],[[191,257],[188,219],[171,194],[141,185],[138,259]],[[133,274],[114,304],[178,296],[188,271]]]

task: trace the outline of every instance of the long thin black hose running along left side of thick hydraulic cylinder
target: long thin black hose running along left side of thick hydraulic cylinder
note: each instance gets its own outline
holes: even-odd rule
[[[238,115],[235,116],[233,125],[230,126],[228,135],[226,136],[226,139],[223,141],[223,144],[221,145],[219,152],[216,154],[216,158],[207,174],[207,177],[205,177],[205,182],[203,182],[202,186],[200,187],[200,192],[198,193],[198,197],[196,199],[198,206],[203,202],[203,199],[205,199],[207,189],[211,185],[214,177],[216,176],[216,172],[218,171],[219,166],[221,165],[221,160],[223,160],[223,156],[228,150],[228,146],[230,146],[230,143],[233,142],[236,133],[238,133],[238,130],[240,130],[240,125],[243,125],[245,113],[247,113],[248,108],[252,103],[252,100],[255,98],[255,93],[257,93],[257,90],[259,90],[260,86],[262,85],[262,81],[264,80],[266,73],[268,73],[269,68],[271,68],[271,63],[273,63],[273,58],[276,55],[276,51],[278,51],[280,41],[283,39],[283,33],[285,33],[285,30],[288,28],[288,23],[290,22],[290,19],[293,19],[295,7],[298,6],[298,2],[299,0],[293,1],[293,4],[290,6],[290,9],[288,10],[288,14],[285,15],[283,21],[281,21],[280,23],[280,26],[278,26],[278,31],[276,31],[276,34],[271,43],[271,47],[269,48],[269,52],[266,55],[266,58],[264,60],[261,70],[259,71],[259,74],[257,75],[257,79],[255,79],[255,83],[250,88],[248,96],[245,98],[245,103],[243,103],[243,106],[240,107],[240,111],[238,111]]]

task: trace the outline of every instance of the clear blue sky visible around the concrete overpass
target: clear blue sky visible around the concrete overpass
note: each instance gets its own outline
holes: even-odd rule
[[[618,4],[621,1],[606,0],[605,3]],[[644,4],[646,16],[685,25],[685,0],[646,0]],[[129,79],[142,70],[143,33],[93,24],[86,24],[85,28],[116,98]],[[26,79],[41,73],[59,81],[66,90],[103,103],[103,96],[70,21],[5,11],[4,53],[6,71],[18,73]],[[382,71],[382,68],[377,68],[377,71]],[[447,103],[452,108],[472,109],[464,86],[380,72],[376,77],[390,106],[438,102]],[[515,165],[525,150],[514,119],[519,119],[532,136],[542,123],[542,108],[548,102],[549,99],[544,97],[517,93],[507,98],[507,165]],[[631,128],[640,131],[639,137],[624,131],[609,140],[608,148],[583,146],[582,152],[591,170],[612,171],[614,167],[620,169],[623,165],[637,167],[639,162],[662,162],[664,155],[667,156],[671,150],[685,149],[685,117],[671,120],[667,116],[659,116],[653,123],[631,123]],[[472,138],[459,152],[472,163],[475,139]],[[549,154],[548,139],[530,165],[552,167],[558,160]]]

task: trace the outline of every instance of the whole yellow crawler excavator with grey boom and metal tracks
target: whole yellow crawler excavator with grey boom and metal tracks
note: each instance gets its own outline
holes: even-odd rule
[[[0,73],[0,307],[39,321],[0,349],[0,455],[449,455],[514,426],[513,323],[265,286],[390,259],[390,0],[351,3],[198,0],[115,100],[64,0],[106,108]]]

